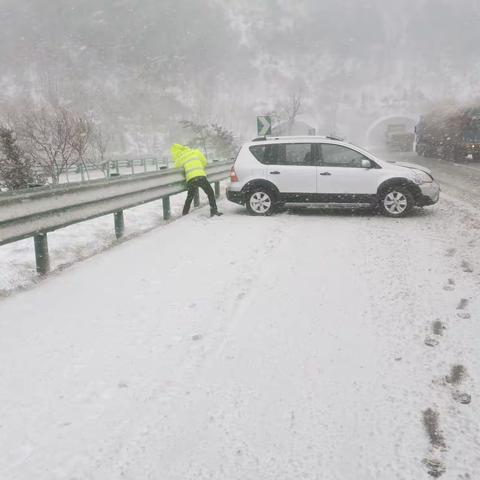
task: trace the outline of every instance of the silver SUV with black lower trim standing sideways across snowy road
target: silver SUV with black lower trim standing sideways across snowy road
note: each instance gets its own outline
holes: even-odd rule
[[[421,165],[390,163],[332,137],[261,137],[240,149],[227,198],[252,215],[286,203],[370,204],[402,217],[438,202],[440,187]]]

